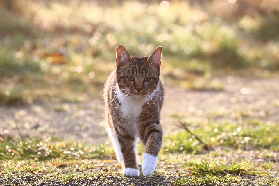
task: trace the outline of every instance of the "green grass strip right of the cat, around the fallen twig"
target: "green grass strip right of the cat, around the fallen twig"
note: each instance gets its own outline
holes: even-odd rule
[[[237,124],[229,119],[221,121],[191,121],[182,120],[189,130],[200,137],[209,146],[223,146],[257,149],[267,148],[278,151],[279,137],[276,123],[264,122],[258,119],[246,119],[243,124]],[[191,134],[175,131],[166,136],[164,151],[168,152],[202,152],[203,145]]]

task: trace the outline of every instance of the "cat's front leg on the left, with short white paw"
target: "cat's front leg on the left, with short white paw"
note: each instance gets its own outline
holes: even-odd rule
[[[124,160],[124,176],[138,177],[139,168],[137,166],[137,158],[135,153],[135,139],[130,135],[118,135],[118,141],[121,147],[121,152]]]

